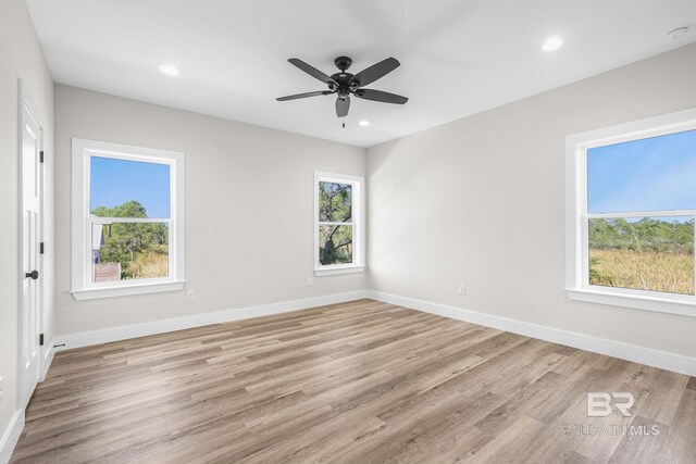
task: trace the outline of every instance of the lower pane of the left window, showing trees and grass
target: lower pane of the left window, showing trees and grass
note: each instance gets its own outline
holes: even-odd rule
[[[94,224],[92,281],[169,276],[167,224]]]

